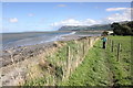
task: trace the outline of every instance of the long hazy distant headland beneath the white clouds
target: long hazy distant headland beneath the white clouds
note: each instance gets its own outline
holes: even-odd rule
[[[106,31],[106,30],[111,30],[111,24],[96,24],[96,25],[91,25],[91,26],[86,26],[86,25],[78,25],[78,26],[73,26],[73,25],[65,25],[65,26],[61,26],[59,29],[59,31]]]

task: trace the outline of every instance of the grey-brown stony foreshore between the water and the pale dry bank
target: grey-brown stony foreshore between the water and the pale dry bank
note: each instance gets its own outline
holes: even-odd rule
[[[11,65],[12,64],[11,58],[14,58],[13,63],[21,62],[29,57],[33,57],[33,56],[41,54],[41,52],[43,52],[44,50],[48,50],[52,46],[57,46],[55,45],[57,42],[72,41],[72,40],[78,40],[81,37],[84,37],[84,36],[65,35],[65,36],[61,36],[60,40],[57,40],[53,42],[18,46],[18,47],[10,47],[8,50],[3,50],[3,51],[1,51],[2,56],[0,56],[0,62],[2,62],[1,67]]]

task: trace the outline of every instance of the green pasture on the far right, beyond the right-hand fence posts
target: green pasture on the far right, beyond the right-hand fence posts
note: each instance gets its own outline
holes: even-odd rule
[[[132,85],[131,76],[131,36],[110,36],[114,41],[114,52],[110,52],[108,46],[109,62],[114,73],[115,85]],[[117,43],[121,43],[120,59],[116,62]]]

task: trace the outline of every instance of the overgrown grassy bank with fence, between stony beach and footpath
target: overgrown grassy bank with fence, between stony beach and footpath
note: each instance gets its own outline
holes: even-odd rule
[[[66,80],[81,64],[95,40],[96,37],[83,37],[76,41],[58,42],[58,45],[63,44],[63,46],[53,54],[41,55],[39,64],[29,69],[29,79],[24,86],[55,86]]]

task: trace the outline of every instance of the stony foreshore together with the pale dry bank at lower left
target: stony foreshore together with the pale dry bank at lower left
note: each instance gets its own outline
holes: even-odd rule
[[[65,45],[66,41],[80,41],[84,37],[94,37],[94,36],[62,36],[61,41],[44,43],[44,44],[37,44],[37,45],[29,45],[22,46],[18,48],[12,48],[4,51],[6,53],[0,62],[2,62],[1,70],[2,70],[2,84],[3,85],[17,85],[19,81],[24,81],[24,76],[27,75],[25,72],[29,72],[29,68],[33,67],[34,65],[39,64],[42,58],[47,55],[54,54],[59,48]],[[45,57],[47,58],[47,57]],[[13,63],[12,63],[13,61]],[[43,62],[43,61],[42,61]],[[12,76],[14,78],[22,77],[22,80],[16,79],[14,84],[12,84]]]

